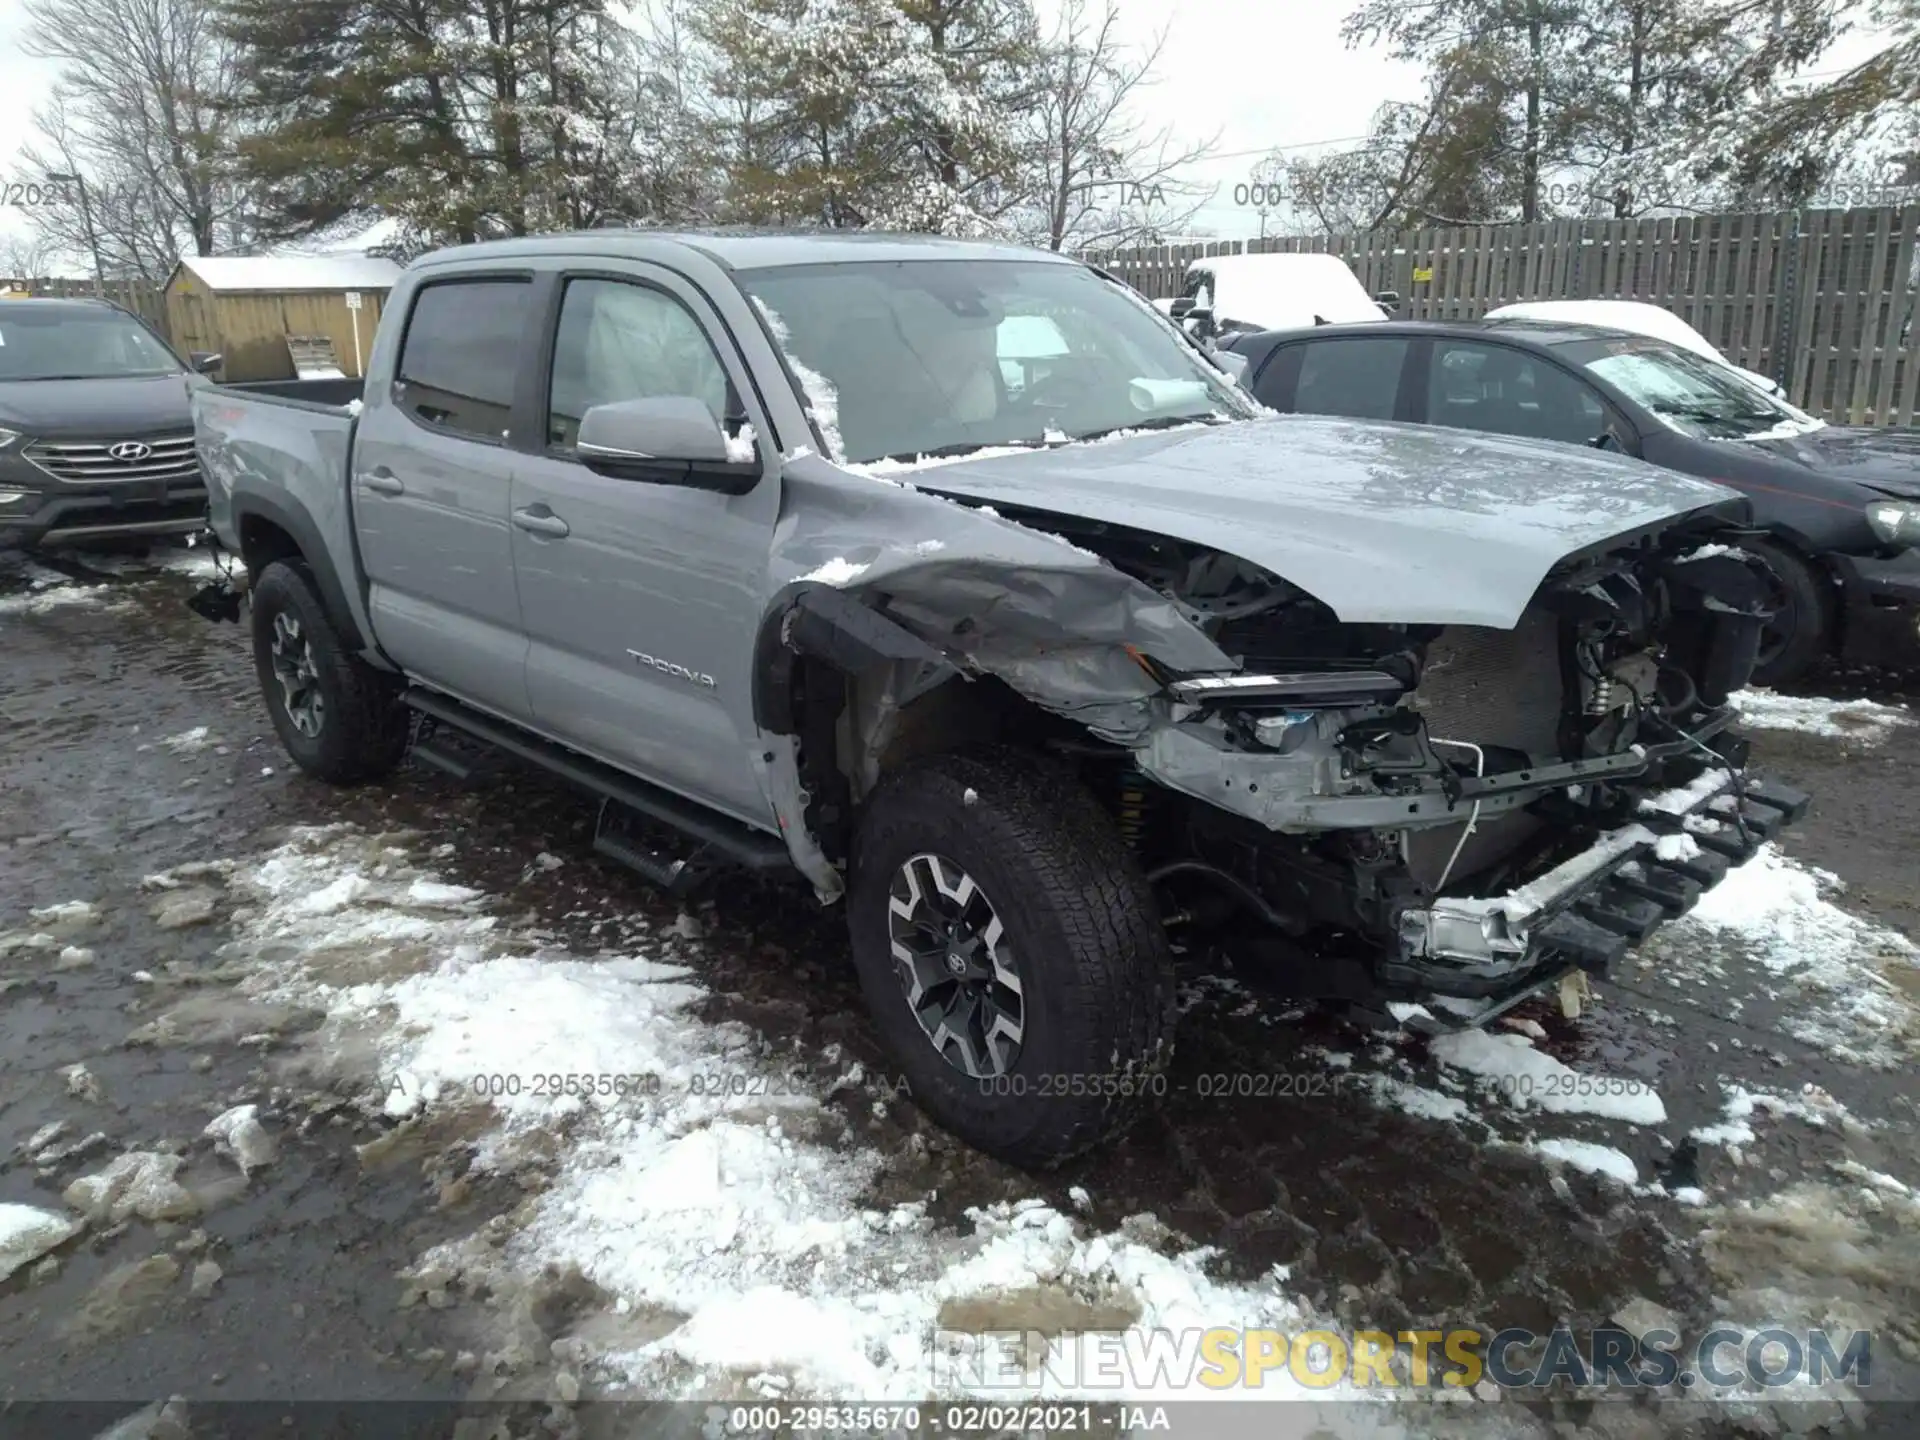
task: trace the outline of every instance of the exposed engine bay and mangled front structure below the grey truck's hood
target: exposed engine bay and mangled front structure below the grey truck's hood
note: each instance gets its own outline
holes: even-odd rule
[[[1373,998],[1482,1023],[1542,973],[1603,972],[1803,804],[1755,789],[1728,730],[1774,582],[1724,530],[1578,557],[1513,630],[1342,624],[1217,551],[1064,532],[1244,666],[1169,676],[1171,724],[1125,770],[1150,872],[1196,918],[1361,941]]]

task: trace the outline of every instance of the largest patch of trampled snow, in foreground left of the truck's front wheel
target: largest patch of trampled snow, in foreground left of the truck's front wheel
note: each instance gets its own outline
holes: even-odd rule
[[[837,1052],[801,1056],[703,1018],[697,966],[666,958],[697,947],[566,952],[497,924],[486,897],[424,872],[401,841],[307,828],[223,866],[240,902],[223,958],[252,966],[255,995],[324,1008],[313,1043],[334,1066],[365,1069],[371,1050],[361,1081],[390,1116],[486,1106],[495,1123],[478,1165],[557,1156],[501,1246],[470,1236],[420,1263],[576,1265],[616,1315],[672,1317],[603,1352],[603,1382],[647,1396],[756,1382],[814,1398],[1014,1398],[975,1386],[966,1356],[941,1359],[933,1332],[956,1325],[956,1306],[975,1332],[1023,1329],[1035,1294],[1052,1294],[1054,1313],[1131,1315],[1104,1321],[1127,1332],[1313,1325],[1279,1275],[1215,1279],[1208,1252],[1165,1254],[1152,1221],[1100,1235],[1031,1200],[972,1210],[954,1229],[929,1221],[925,1200],[874,1208],[887,1158],[852,1139],[814,1079]],[[858,1068],[839,1081],[856,1104],[883,1104],[862,1083]],[[1069,1380],[1037,1371],[1031,1394],[1073,1394]],[[1098,1380],[1083,1394],[1117,1398]],[[1309,1392],[1281,1367],[1254,1394],[1340,1392]]]

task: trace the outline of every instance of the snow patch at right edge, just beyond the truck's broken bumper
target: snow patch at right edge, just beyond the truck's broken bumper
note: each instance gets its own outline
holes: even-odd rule
[[[1839,891],[1836,876],[1766,845],[1642,956],[1655,973],[1713,985],[1726,973],[1720,947],[1738,947],[1766,972],[1788,1035],[1853,1064],[1907,1064],[1920,1016],[1889,972],[1920,966],[1920,947],[1828,899]]]

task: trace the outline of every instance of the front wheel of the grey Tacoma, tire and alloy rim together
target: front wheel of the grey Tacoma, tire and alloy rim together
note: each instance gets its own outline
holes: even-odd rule
[[[847,922],[883,1043],[968,1144],[1052,1165],[1162,1092],[1173,962],[1152,887],[1064,770],[983,751],[885,780]]]

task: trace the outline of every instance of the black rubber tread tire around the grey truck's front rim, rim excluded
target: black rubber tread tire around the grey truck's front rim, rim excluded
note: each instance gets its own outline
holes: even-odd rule
[[[1020,1052],[970,1079],[933,1046],[893,960],[889,893],[937,852],[998,914],[1023,987]],[[1046,1167],[1119,1133],[1165,1085],[1173,958],[1152,885],[1064,768],[1014,749],[941,755],[879,783],[852,847],[847,924],[874,1023],[914,1100],[968,1144]]]

